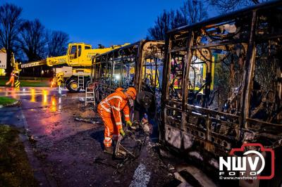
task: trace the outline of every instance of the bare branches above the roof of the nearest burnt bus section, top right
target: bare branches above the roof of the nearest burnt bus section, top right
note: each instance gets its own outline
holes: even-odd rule
[[[216,6],[220,11],[234,11],[246,6],[261,4],[269,0],[209,0],[212,6]]]

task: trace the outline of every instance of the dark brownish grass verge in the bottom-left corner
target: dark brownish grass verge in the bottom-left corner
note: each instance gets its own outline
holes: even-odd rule
[[[0,186],[38,186],[18,134],[0,124]]]

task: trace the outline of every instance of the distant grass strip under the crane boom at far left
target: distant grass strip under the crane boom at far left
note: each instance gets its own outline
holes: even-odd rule
[[[0,86],[6,86],[9,79],[10,77],[0,77]],[[46,77],[20,77],[20,87],[49,87],[49,79]]]

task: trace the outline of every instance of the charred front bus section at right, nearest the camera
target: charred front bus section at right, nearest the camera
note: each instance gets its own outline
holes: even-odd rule
[[[282,1],[180,27],[166,36],[160,126],[164,148],[216,171],[210,174],[217,178],[219,157],[233,148],[268,148],[275,155],[264,152],[266,169],[259,176],[272,179],[239,182],[280,186]]]

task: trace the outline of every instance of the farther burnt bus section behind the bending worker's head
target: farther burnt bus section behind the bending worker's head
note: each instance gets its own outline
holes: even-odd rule
[[[97,101],[118,87],[134,86],[138,93],[145,91],[140,103],[147,106],[150,113],[155,113],[155,106],[160,102],[163,62],[164,41],[141,40],[95,56],[92,82],[97,85]]]

